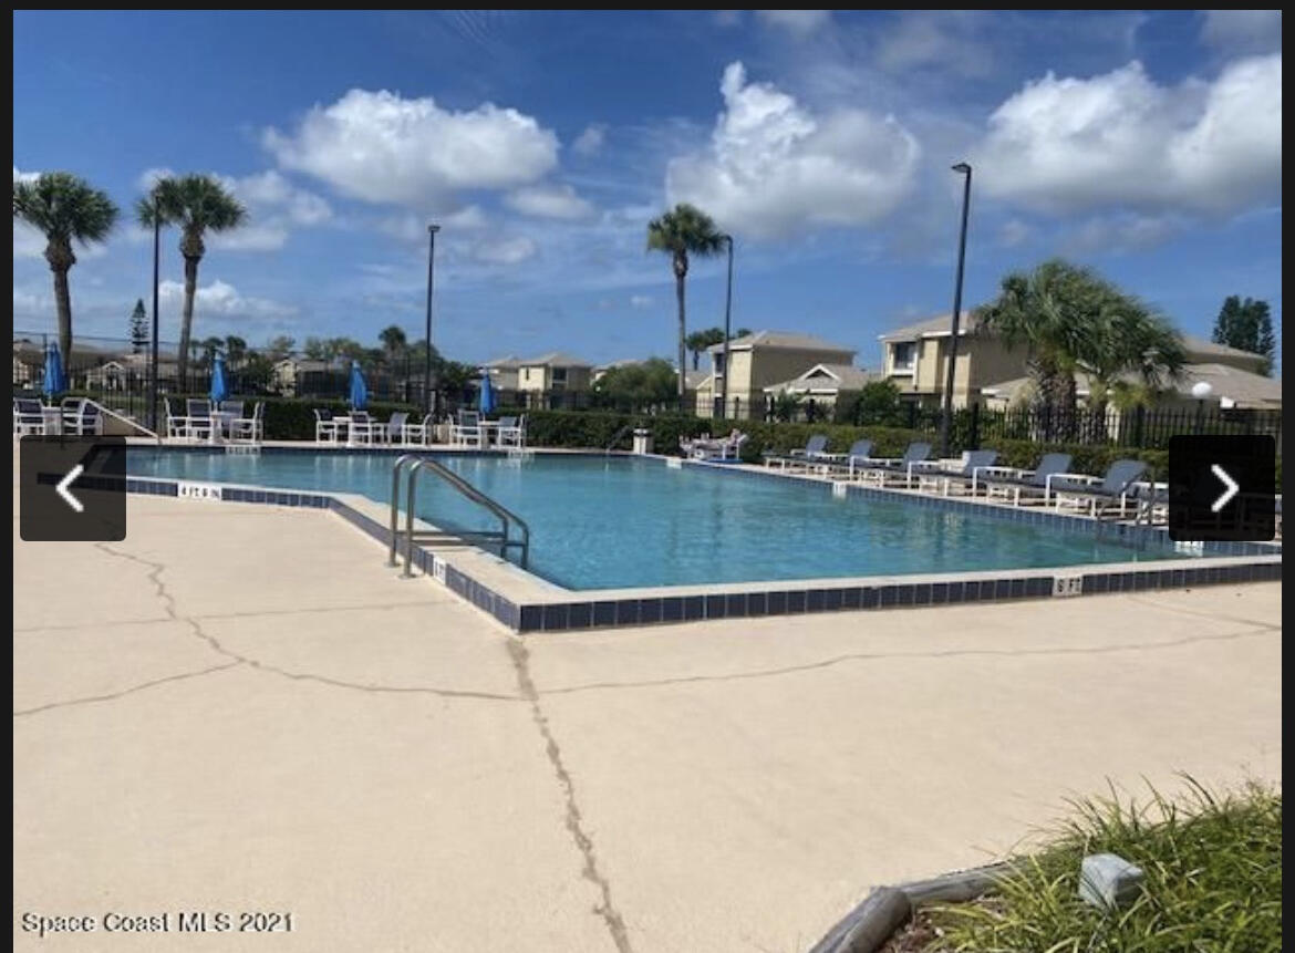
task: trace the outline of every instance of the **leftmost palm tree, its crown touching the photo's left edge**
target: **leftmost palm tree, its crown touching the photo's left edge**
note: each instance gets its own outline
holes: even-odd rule
[[[48,240],[45,260],[54,273],[58,350],[73,356],[73,298],[67,272],[76,264],[73,241],[101,242],[117,223],[118,208],[107,193],[70,172],[43,172],[34,181],[14,181],[13,216],[40,229]]]

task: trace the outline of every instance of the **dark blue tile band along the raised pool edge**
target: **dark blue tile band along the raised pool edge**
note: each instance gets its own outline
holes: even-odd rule
[[[171,448],[168,448],[171,449]],[[183,451],[206,451],[208,448],[175,448]],[[310,445],[303,449],[333,452],[329,447]],[[344,452],[346,448],[337,448]],[[267,448],[267,452],[298,452],[295,448]],[[216,451],[219,452],[219,449]],[[365,452],[365,451],[360,451]],[[435,451],[439,453],[440,451]],[[469,451],[469,453],[471,453]],[[567,454],[567,456],[602,456]],[[660,458],[664,464],[664,458]],[[706,466],[706,464],[693,464]],[[820,486],[824,492],[831,492],[833,484],[825,480],[805,479],[794,474],[777,471],[742,470],[725,467],[729,474],[742,474],[752,479],[802,479],[811,486]],[[180,486],[185,480],[159,479],[153,476],[128,476],[126,491],[154,496],[180,496]],[[391,545],[391,530],[385,523],[359,511],[332,493],[282,491],[269,487],[238,484],[219,486],[221,502],[265,504],[272,506],[304,506],[335,513],[383,546]],[[895,491],[873,487],[848,486],[848,495],[864,497],[901,497],[917,505],[963,509],[974,508],[1006,519],[1049,524],[1070,532],[1111,533],[1120,541],[1137,548],[1142,545],[1166,545],[1163,528],[1129,526],[1115,523],[1094,523],[1080,517],[1041,510],[1017,510],[1015,508],[987,506],[969,500],[938,496],[917,496],[896,493]],[[745,619],[773,615],[800,615],[807,612],[864,611],[881,609],[908,609],[922,606],[958,605],[967,602],[1014,602],[1020,600],[1058,598],[1058,580],[1080,577],[1081,589],[1077,596],[1096,596],[1115,592],[1141,592],[1147,589],[1182,589],[1198,585],[1234,585],[1238,583],[1276,581],[1282,577],[1281,545],[1260,543],[1206,543],[1203,555],[1193,558],[1193,566],[1169,565],[1156,568],[1155,563],[1142,563],[1136,570],[1109,563],[1096,566],[1072,566],[1040,570],[1002,570],[1002,575],[992,571],[975,574],[932,574],[914,576],[914,581],[896,581],[896,577],[878,577],[869,583],[840,580],[839,584],[817,581],[813,585],[796,581],[769,583],[764,589],[752,590],[749,587],[739,592],[725,589],[716,584],[714,592],[703,594],[681,593],[671,596],[659,589],[645,590],[644,596],[623,596],[607,598],[597,590],[588,594],[571,592],[567,601],[535,600],[517,602],[506,594],[474,579],[456,565],[452,557],[444,557],[423,546],[414,548],[414,563],[426,575],[443,579],[444,585],[480,609],[514,632],[571,632],[580,629],[616,628],[625,625],[672,624],[697,622],[702,619]],[[1254,557],[1250,562],[1219,563],[1211,557]],[[974,575],[974,579],[966,577]],[[689,587],[695,588],[695,587]]]

